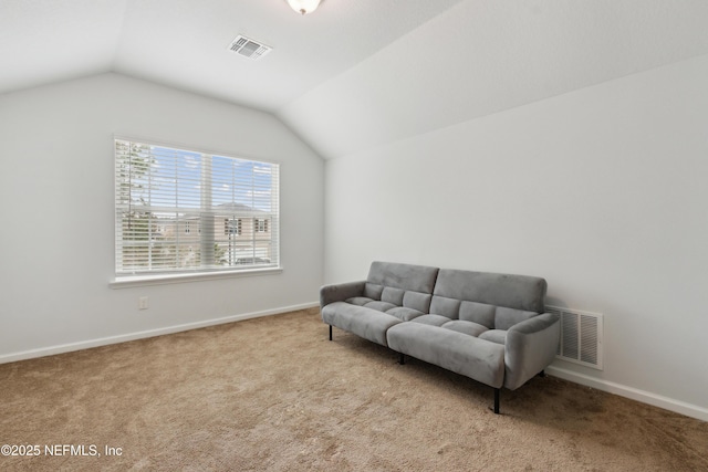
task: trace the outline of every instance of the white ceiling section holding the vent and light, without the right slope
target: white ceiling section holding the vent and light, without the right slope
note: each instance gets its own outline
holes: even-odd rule
[[[107,71],[275,112],[459,0],[2,0],[0,93]],[[228,50],[239,34],[273,51]]]

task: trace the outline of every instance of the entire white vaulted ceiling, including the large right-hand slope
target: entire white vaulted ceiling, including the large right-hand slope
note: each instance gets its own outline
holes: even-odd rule
[[[706,25],[705,0],[2,0],[0,93],[112,71],[271,112],[335,158],[708,54]]]

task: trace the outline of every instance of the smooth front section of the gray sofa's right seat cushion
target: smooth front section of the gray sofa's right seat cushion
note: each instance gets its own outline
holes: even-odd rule
[[[386,338],[388,347],[398,353],[494,388],[503,385],[504,346],[497,343],[415,321],[392,326]]]

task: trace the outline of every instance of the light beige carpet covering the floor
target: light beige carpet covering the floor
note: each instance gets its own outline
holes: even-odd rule
[[[553,377],[494,416],[489,387],[334,336],[310,310],[0,365],[0,444],[41,452],[0,470],[708,470],[706,422]]]

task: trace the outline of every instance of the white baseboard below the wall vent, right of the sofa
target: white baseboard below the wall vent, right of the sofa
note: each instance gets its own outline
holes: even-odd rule
[[[649,391],[639,390],[626,385],[615,384],[603,379],[586,376],[584,374],[574,373],[561,367],[549,366],[545,373],[550,376],[562,378],[564,380],[572,381],[574,384],[584,385],[586,387],[596,388],[597,390],[606,391],[608,394],[618,395],[621,397],[629,398],[632,400],[641,401],[643,403],[652,405],[654,407],[663,408],[665,410],[674,411],[687,417],[696,418],[701,421],[708,421],[708,409],[698,407],[696,405],[686,403],[685,401],[675,400],[673,398],[663,397],[660,395],[652,394]]]

